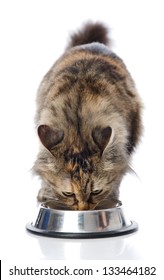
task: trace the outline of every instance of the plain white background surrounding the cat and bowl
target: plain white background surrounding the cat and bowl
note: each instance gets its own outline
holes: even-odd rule
[[[1,1],[0,3],[0,258],[160,261],[164,158],[163,1]],[[121,199],[139,223],[132,236],[62,240],[25,231],[40,185],[30,169],[38,139],[35,96],[43,75],[65,49],[70,32],[91,19],[110,27],[113,50],[125,61],[145,109],[145,132]]]

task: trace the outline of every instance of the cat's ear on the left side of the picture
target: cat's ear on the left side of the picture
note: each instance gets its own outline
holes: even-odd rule
[[[48,125],[40,125],[38,127],[38,135],[42,144],[48,150],[51,150],[64,138],[64,132],[62,130],[52,129]]]

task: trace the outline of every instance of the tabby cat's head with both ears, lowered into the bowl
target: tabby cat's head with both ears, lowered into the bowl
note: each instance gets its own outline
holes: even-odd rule
[[[35,163],[44,187],[39,201],[50,207],[88,210],[113,207],[127,169],[127,159],[113,140],[110,126],[94,127],[85,138],[77,132],[38,127],[42,151]]]

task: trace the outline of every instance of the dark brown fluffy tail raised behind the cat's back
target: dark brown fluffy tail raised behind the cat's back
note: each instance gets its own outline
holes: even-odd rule
[[[94,42],[102,43],[109,46],[110,39],[108,37],[108,33],[109,30],[104,24],[100,22],[88,22],[83,26],[81,30],[71,35],[67,49]]]

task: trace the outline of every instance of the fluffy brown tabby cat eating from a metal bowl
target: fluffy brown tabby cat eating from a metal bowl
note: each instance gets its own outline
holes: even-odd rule
[[[142,103],[103,23],[86,23],[70,36],[36,104],[38,201],[70,210],[117,206],[141,138]]]

